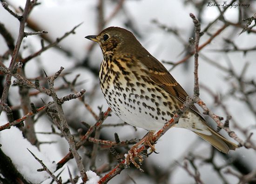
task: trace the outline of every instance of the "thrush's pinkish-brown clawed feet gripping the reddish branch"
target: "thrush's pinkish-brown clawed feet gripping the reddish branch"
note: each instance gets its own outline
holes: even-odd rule
[[[140,169],[140,165],[138,165],[135,162],[135,157],[138,157],[139,163],[141,164],[143,161],[143,157],[141,155],[138,155],[138,147],[143,143],[145,147],[150,147],[152,152],[155,152],[155,147],[153,146],[155,144],[155,141],[152,140],[154,136],[155,131],[149,131],[139,142],[137,142],[134,146],[131,147],[131,149],[128,151],[128,154],[126,155],[125,158],[125,164],[129,165],[130,162],[135,165],[137,169]],[[153,145],[152,145],[153,144]],[[141,170],[143,171],[143,170]]]

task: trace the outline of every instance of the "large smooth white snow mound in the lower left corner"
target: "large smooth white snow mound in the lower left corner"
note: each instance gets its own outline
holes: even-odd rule
[[[27,148],[35,154],[50,171],[55,171],[55,164],[43,153],[41,153],[36,146],[31,145],[22,136],[22,132],[16,128],[4,130],[0,132],[0,144],[2,151],[10,157],[16,169],[29,182],[39,184],[49,178],[46,171],[38,172],[37,169],[42,168],[40,163],[34,159],[32,154],[28,152]]]

